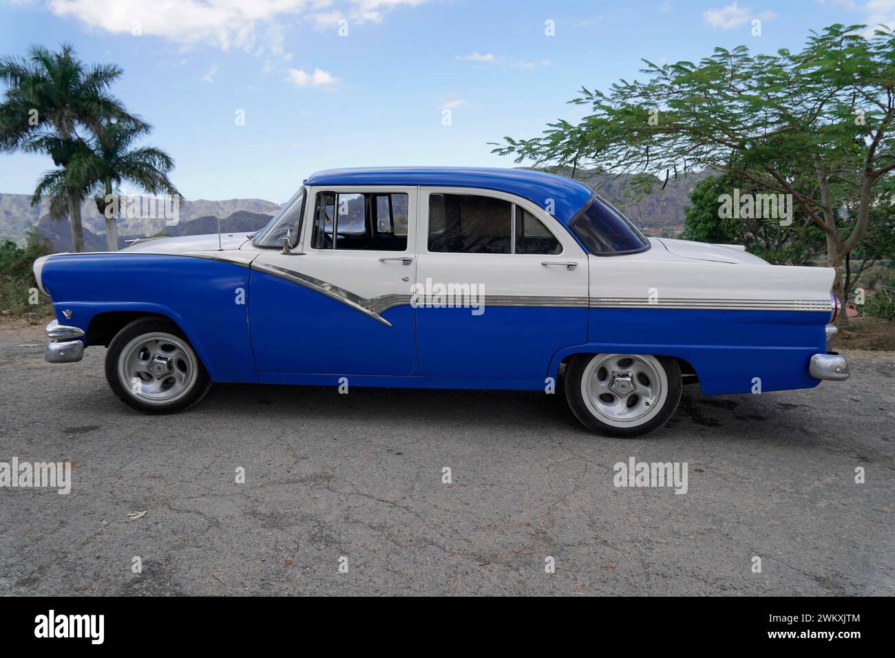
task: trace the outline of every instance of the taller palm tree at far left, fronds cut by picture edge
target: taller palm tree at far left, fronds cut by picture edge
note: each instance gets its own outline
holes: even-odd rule
[[[74,179],[68,167],[72,158],[87,147],[79,130],[83,127],[97,133],[110,119],[142,123],[108,93],[122,73],[113,64],[85,67],[69,44],[63,44],[59,52],[32,46],[26,59],[0,57],[0,80],[8,88],[0,103],[0,150],[47,153],[55,166],[61,167],[47,173],[52,175],[52,182],[45,175],[41,184],[47,183],[43,189],[55,194],[50,200],[51,216],[62,217],[67,211],[75,252],[84,248],[84,194],[81,182]],[[31,205],[39,201],[38,191]]]

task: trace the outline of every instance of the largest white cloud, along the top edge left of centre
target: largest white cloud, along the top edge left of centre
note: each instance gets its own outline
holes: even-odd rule
[[[255,54],[282,52],[283,26],[289,18],[334,24],[381,21],[400,6],[427,0],[47,0],[57,16],[72,17],[90,29],[112,34],[167,38],[181,44],[211,44]],[[337,5],[344,7],[339,9]],[[323,13],[323,10],[327,10]],[[260,36],[256,35],[259,28]],[[258,46],[257,44],[261,44]]]

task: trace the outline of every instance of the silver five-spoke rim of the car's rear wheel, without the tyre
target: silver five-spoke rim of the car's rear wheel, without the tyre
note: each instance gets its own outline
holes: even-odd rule
[[[595,355],[581,380],[584,403],[604,423],[646,423],[668,396],[668,377],[650,355]]]

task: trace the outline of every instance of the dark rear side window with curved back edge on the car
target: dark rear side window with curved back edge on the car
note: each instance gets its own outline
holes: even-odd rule
[[[558,240],[522,206],[478,194],[430,194],[429,251],[559,253]]]

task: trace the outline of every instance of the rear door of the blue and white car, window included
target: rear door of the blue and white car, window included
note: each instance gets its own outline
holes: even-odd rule
[[[419,207],[420,374],[543,380],[554,353],[586,342],[587,255],[556,218],[472,188],[423,187]],[[445,303],[451,285],[482,303]]]

